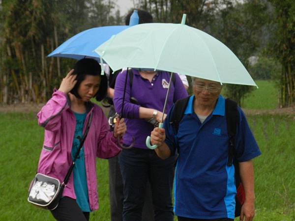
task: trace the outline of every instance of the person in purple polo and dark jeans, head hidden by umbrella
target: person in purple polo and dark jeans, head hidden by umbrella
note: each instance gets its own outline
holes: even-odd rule
[[[124,202],[123,221],[140,221],[144,206],[147,181],[152,190],[155,221],[173,221],[171,192],[174,179],[175,157],[161,160],[154,150],[146,147],[146,138],[153,130],[153,125],[145,119],[155,118],[160,122],[168,90],[170,74],[162,71],[130,70],[133,72],[132,86],[127,78],[126,94],[122,116],[125,118],[127,131],[123,143],[129,146],[135,138],[134,148],[123,149],[119,155],[119,165],[123,178]],[[114,106],[120,113],[123,100],[125,77],[122,71],[116,80]],[[172,83],[164,119],[172,105],[188,94],[179,78],[175,75]],[[137,103],[131,103],[130,98]]]

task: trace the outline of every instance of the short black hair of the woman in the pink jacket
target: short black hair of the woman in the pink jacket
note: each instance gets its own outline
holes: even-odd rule
[[[74,88],[70,91],[70,93],[74,94],[77,98],[81,98],[78,94],[78,88],[86,78],[86,75],[93,75],[100,77],[100,85],[97,93],[94,95],[97,101],[103,100],[107,95],[108,89],[108,79],[106,75],[101,75],[101,67],[100,64],[92,59],[92,58],[83,58],[78,60],[74,66],[74,72],[72,75],[77,75]]]

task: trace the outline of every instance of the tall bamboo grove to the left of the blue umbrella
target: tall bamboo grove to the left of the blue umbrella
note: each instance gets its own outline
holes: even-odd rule
[[[46,55],[82,30],[120,24],[114,5],[113,0],[0,1],[0,103],[46,102],[75,62]]]

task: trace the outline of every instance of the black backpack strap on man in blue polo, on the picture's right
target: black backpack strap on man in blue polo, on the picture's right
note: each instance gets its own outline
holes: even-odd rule
[[[227,98],[225,100],[225,116],[229,135],[229,156],[227,166],[232,166],[235,153],[236,125],[238,121],[237,104]]]

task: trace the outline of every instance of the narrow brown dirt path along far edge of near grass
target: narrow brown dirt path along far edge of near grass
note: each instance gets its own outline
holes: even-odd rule
[[[38,112],[44,104],[15,104],[15,105],[0,105],[0,112]],[[108,109],[104,108],[104,111]],[[246,115],[256,114],[287,114],[294,116],[295,119],[295,107],[282,108],[274,110],[249,110],[243,109]]]

